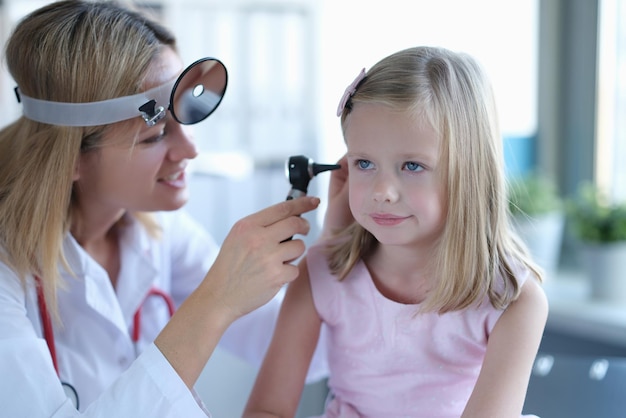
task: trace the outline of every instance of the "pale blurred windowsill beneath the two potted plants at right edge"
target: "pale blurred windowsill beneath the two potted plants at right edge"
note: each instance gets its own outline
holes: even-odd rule
[[[626,347],[626,306],[591,299],[584,275],[558,272],[544,289],[550,303],[547,330]]]

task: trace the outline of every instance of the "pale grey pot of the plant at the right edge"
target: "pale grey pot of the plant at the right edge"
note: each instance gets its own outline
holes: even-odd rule
[[[584,243],[580,253],[591,286],[591,298],[626,304],[626,241]]]

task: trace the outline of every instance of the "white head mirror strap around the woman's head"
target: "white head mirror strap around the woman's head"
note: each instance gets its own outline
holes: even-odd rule
[[[97,126],[141,116],[148,126],[153,126],[169,108],[175,81],[132,96],[89,103],[33,99],[24,95],[19,87],[15,88],[15,92],[22,103],[24,117],[37,122],[59,126]]]

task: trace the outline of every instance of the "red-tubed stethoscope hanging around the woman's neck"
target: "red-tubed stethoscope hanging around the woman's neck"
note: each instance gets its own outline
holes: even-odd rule
[[[60,380],[59,365],[57,362],[56,344],[54,341],[54,332],[52,330],[52,320],[50,318],[50,312],[48,311],[46,298],[44,297],[44,294],[43,294],[43,288],[41,286],[41,279],[39,277],[35,277],[35,281],[36,281],[36,288],[37,288],[37,304],[39,306],[39,313],[41,315],[43,337],[46,340],[46,344],[48,345],[48,350],[50,351],[50,357],[52,357],[52,364],[54,366],[54,370],[56,371],[57,376],[59,376],[59,380]],[[167,306],[167,311],[169,313],[170,318],[172,317],[172,315],[174,315],[174,311],[176,310],[176,306],[174,305],[174,301],[172,300],[170,295],[168,295],[166,292],[164,292],[161,289],[157,289],[156,287],[151,288],[148,291],[148,294],[146,295],[146,297],[141,302],[141,305],[139,305],[139,308],[135,312],[135,315],[133,316],[133,331],[131,333],[131,339],[135,347],[137,346],[137,343],[139,342],[139,336],[141,334],[141,308],[145,304],[146,300],[151,296],[157,296],[163,299],[163,301],[165,302],[165,305]],[[61,380],[61,385],[63,386],[63,390],[65,391],[65,394],[68,396],[68,398],[70,398],[70,400],[72,401],[72,403],[78,410],[80,404],[78,401],[78,391],[76,390],[76,388],[72,386],[70,383],[64,382],[62,380]]]

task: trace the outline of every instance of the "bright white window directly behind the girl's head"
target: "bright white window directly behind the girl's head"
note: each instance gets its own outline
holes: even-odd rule
[[[357,0],[325,2],[320,14],[320,115],[325,159],[341,155],[335,109],[361,68],[397,50],[443,46],[473,55],[487,70],[497,96],[510,171],[534,163],[537,130],[539,0]],[[357,12],[358,11],[358,12]],[[513,151],[513,152],[511,152]]]

